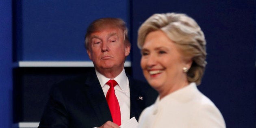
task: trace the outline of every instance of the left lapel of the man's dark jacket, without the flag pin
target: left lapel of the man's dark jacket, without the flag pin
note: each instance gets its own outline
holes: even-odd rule
[[[91,74],[86,81],[86,95],[93,106],[98,117],[100,124],[104,124],[106,121],[112,121],[111,113],[106,102],[106,98],[100,86],[100,82],[95,73]]]

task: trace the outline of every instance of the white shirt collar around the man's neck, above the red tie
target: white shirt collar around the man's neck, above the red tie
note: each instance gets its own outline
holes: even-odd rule
[[[97,70],[95,70],[95,72],[98,77],[98,80],[100,81],[101,87],[103,87],[106,84],[106,82],[108,82],[108,80],[111,80],[110,78],[106,78],[104,75],[100,74],[100,72],[98,72]],[[126,91],[126,84],[127,84],[128,78],[126,76],[124,69],[117,77],[113,78],[113,80],[117,82],[117,84],[123,91]]]

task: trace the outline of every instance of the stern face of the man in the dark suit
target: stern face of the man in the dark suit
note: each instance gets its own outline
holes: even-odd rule
[[[121,29],[105,27],[91,33],[87,53],[98,72],[102,73],[106,70],[119,72],[124,68],[130,46],[124,44],[124,33]]]

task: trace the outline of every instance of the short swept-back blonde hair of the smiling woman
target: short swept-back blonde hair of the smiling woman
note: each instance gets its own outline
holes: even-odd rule
[[[200,85],[206,66],[206,41],[200,26],[186,14],[154,14],[139,28],[137,45],[140,49],[146,36],[156,30],[162,30],[175,42],[185,58],[192,59],[187,80]]]

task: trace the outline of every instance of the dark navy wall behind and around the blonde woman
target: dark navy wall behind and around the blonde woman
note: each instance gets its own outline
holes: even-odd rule
[[[199,89],[219,108],[227,128],[255,128],[255,0],[133,0],[131,5],[135,78],[144,79],[136,44],[139,26],[154,13],[186,13],[207,41],[208,64]]]

